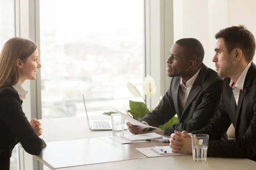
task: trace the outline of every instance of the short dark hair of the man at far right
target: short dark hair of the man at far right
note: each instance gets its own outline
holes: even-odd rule
[[[215,34],[215,38],[223,38],[229,53],[235,48],[240,48],[247,62],[253,60],[255,38],[245,26],[239,25],[222,29]]]

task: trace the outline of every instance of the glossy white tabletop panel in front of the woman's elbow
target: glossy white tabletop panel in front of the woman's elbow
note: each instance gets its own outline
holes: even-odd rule
[[[51,170],[87,164],[140,159],[134,153],[98,138],[47,142],[39,156],[34,156]]]

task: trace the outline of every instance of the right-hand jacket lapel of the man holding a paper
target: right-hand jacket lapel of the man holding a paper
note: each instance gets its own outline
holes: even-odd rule
[[[200,91],[202,90],[202,86],[201,84],[204,82],[206,74],[207,74],[207,66],[204,65],[204,63],[202,64],[202,68],[199,71],[198,77],[195,79],[194,84],[192,85],[192,88],[189,92],[189,96],[186,99],[186,104],[183,108],[183,113],[182,116],[184,115],[186,109],[189,107],[189,105],[191,104],[191,102],[193,102],[193,100],[195,99],[195,97],[200,93]]]

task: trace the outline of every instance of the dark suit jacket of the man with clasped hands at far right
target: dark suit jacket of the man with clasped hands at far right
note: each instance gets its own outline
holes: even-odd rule
[[[211,122],[192,134],[209,135],[207,155],[216,157],[248,158],[256,161],[256,66],[251,64],[240,91],[236,106],[230,78],[225,78],[218,111]],[[235,127],[235,140],[218,141],[231,123]]]

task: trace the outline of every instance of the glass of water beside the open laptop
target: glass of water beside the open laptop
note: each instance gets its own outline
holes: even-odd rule
[[[111,114],[111,121],[112,121],[113,136],[124,135],[125,118],[122,117],[119,113],[113,113]]]

